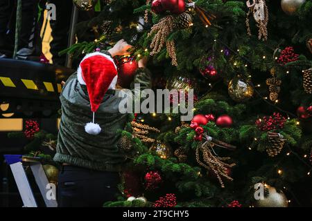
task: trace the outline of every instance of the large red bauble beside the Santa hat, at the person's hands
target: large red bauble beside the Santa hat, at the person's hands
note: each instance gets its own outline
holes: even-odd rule
[[[117,84],[122,88],[130,88],[130,84],[135,79],[135,72],[139,68],[137,61],[133,58],[124,57],[116,63],[118,67]]]

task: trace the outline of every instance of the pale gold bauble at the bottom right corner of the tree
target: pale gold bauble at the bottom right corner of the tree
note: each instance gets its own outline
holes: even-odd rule
[[[286,195],[272,186],[266,185],[268,195],[264,196],[263,200],[255,200],[254,206],[256,207],[288,207],[288,200]]]

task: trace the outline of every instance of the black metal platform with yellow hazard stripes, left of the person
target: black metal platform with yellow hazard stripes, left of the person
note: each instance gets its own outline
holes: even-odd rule
[[[60,108],[62,81],[73,70],[35,61],[0,59],[0,102],[12,117],[51,117]]]

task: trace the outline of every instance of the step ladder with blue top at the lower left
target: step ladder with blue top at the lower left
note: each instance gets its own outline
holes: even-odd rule
[[[35,182],[40,189],[40,193],[46,207],[58,207],[56,201],[55,185],[50,184],[41,164],[40,157],[27,157],[23,155],[4,155],[6,162],[10,165],[17,189],[23,201],[23,207],[38,207],[35,196],[28,182],[25,167],[30,166]]]

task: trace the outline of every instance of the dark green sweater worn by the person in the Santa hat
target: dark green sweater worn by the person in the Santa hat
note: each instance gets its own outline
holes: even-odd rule
[[[141,89],[150,88],[150,72],[139,68],[134,83]],[[95,121],[102,131],[98,135],[85,132],[85,124],[92,122],[92,111],[86,86],[80,85],[76,73],[71,75],[60,95],[62,116],[58,133],[56,162],[82,166],[98,171],[121,171],[125,155],[119,150],[119,129],[125,128],[128,114],[119,113],[119,90],[107,90],[96,111]]]

